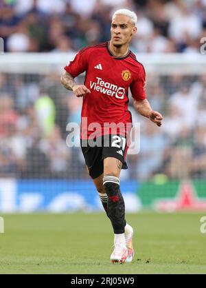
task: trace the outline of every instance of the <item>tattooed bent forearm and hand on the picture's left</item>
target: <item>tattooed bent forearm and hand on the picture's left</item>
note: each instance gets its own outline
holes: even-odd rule
[[[87,93],[91,93],[85,85],[78,85],[76,81],[74,81],[71,74],[66,71],[61,76],[61,82],[67,90],[73,91],[73,94],[75,94],[77,97],[82,97]]]

